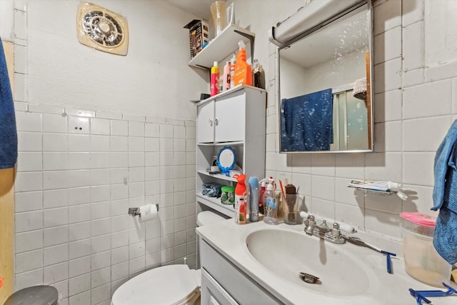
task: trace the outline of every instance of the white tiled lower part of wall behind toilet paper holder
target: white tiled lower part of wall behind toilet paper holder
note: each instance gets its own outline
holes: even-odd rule
[[[16,105],[16,289],[109,304],[145,269],[195,265],[195,121]],[[127,214],[150,202],[158,219]]]

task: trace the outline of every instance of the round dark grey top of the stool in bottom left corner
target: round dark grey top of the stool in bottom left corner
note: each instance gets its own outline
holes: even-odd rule
[[[14,292],[4,305],[57,305],[58,299],[56,287],[39,285]]]

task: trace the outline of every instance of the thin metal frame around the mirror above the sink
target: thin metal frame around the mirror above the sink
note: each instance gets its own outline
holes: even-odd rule
[[[317,0],[315,0],[317,1]],[[334,21],[338,21],[342,16],[354,11],[356,9],[361,8],[362,6],[367,6],[366,14],[367,14],[367,21],[368,21],[368,51],[369,51],[369,66],[370,69],[367,73],[369,80],[367,79],[367,95],[368,98],[366,100],[367,104],[367,121],[368,121],[368,149],[353,149],[353,150],[338,150],[338,151],[283,151],[281,146],[281,64],[280,64],[280,54],[279,52],[281,49],[286,49],[288,46],[293,44],[296,41],[304,39],[306,36],[320,30],[324,26],[331,24]],[[302,9],[306,9],[306,6]],[[302,34],[294,37],[293,39],[286,41],[281,46],[278,46],[276,49],[276,63],[277,63],[277,78],[276,81],[276,92],[278,94],[278,141],[279,141],[279,153],[280,154],[328,154],[328,153],[363,153],[363,152],[373,152],[374,151],[374,116],[373,116],[373,5],[371,4],[371,0],[362,1],[354,6],[351,6],[349,9],[337,14],[336,16],[323,21],[321,24],[313,26],[311,29],[303,31]]]

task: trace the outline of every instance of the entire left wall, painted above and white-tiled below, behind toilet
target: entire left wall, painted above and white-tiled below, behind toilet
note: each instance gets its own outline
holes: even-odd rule
[[[183,26],[195,16],[164,1],[99,1],[129,21],[129,54],[116,56],[79,44],[79,1],[0,3],[15,53],[15,288],[51,284],[60,305],[110,304],[145,269],[195,266],[189,99],[209,89],[206,71],[187,65]],[[159,218],[127,214],[147,203]]]

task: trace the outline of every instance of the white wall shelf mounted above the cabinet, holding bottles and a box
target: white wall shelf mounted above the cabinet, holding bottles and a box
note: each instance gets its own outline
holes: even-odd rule
[[[233,51],[238,49],[238,41],[240,40],[245,44],[250,41],[251,53],[253,53],[253,40],[255,36],[251,31],[243,29],[236,24],[230,24],[189,61],[189,66],[211,69],[214,61],[219,61],[233,54]]]

